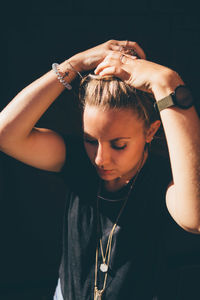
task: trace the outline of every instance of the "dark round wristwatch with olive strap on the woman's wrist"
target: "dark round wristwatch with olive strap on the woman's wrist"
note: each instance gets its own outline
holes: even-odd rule
[[[179,85],[173,93],[158,100],[156,104],[159,111],[171,106],[188,109],[194,104],[194,100],[190,89],[186,85]]]

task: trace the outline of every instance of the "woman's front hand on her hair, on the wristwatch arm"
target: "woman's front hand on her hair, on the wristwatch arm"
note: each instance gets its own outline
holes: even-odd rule
[[[183,81],[179,75],[145,59],[122,52],[112,52],[95,69],[100,76],[113,75],[136,89],[153,93],[156,99],[165,97]]]

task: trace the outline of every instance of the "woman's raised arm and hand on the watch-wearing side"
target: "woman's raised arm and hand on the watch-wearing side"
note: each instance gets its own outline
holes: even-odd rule
[[[136,45],[135,50],[139,48]],[[156,101],[183,85],[173,70],[117,52],[108,55],[95,71],[115,75],[133,87],[151,92]],[[193,107],[171,106],[160,112],[167,138],[173,182],[166,193],[167,207],[184,229],[200,232],[200,120]]]

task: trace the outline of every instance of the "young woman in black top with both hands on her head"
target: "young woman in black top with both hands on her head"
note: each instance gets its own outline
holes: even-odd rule
[[[89,70],[94,74],[80,90],[83,139],[35,128],[77,74]],[[154,102],[170,165],[148,151],[160,126]],[[0,147],[65,175],[55,299],[152,299],[168,212],[199,233],[200,123],[191,94],[176,72],[147,61],[135,42],[111,40],[54,64],[1,112]]]

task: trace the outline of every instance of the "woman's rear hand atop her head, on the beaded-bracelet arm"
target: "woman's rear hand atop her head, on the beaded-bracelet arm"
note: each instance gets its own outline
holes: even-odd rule
[[[79,72],[89,71],[95,69],[111,52],[123,52],[123,49],[133,50],[140,58],[145,59],[144,51],[136,42],[109,40],[74,55],[70,61],[74,62],[74,66]]]

